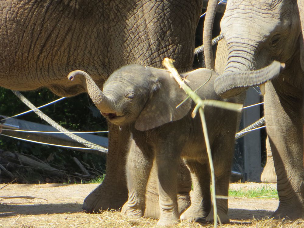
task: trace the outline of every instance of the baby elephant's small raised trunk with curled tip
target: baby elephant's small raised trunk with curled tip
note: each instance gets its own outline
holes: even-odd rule
[[[90,75],[85,71],[72,71],[67,75],[67,78],[70,81],[73,81],[78,75],[80,76],[79,79],[81,80],[83,87],[88,92],[96,107],[103,113],[113,113],[113,102],[99,89]]]

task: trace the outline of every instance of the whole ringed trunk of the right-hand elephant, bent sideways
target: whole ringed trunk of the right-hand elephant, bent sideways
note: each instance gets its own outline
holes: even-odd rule
[[[264,84],[277,77],[285,67],[284,63],[273,61],[264,68],[250,71],[266,62],[262,57],[256,59],[253,54],[256,48],[240,43],[228,43],[228,47],[226,69],[214,81],[214,90],[222,98],[237,96],[250,86]]]

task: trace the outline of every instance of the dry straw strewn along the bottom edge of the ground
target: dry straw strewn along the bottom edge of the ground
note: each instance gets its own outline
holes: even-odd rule
[[[49,214],[49,215],[19,215],[11,217],[10,221],[5,221],[0,224],[0,227],[12,228],[67,228],[67,227],[86,227],[86,228],[99,228],[99,227],[156,227],[157,221],[154,219],[131,219],[120,212],[108,211],[101,214],[86,214],[84,212],[78,213],[65,213],[65,214]],[[182,221],[177,225],[167,226],[177,228],[201,228],[213,227],[213,224],[208,223],[194,223]],[[290,220],[277,220],[277,219],[251,219],[245,221],[232,222],[223,225],[225,228],[264,228],[264,227],[304,227],[304,220],[299,219],[295,221]]]

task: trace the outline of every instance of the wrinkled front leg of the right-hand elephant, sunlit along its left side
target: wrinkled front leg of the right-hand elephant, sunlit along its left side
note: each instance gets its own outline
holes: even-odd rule
[[[282,84],[287,83],[279,80],[266,83],[264,97],[267,133],[280,199],[274,216],[296,219],[303,218],[304,213],[303,98],[302,92],[296,88],[292,91],[285,89],[283,93],[280,90]]]

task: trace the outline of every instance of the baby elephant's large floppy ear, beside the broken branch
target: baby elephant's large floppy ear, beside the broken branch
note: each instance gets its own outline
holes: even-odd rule
[[[157,80],[152,94],[138,116],[135,128],[140,131],[149,130],[171,121],[183,118],[189,112],[192,100],[176,108],[188,95],[179,88],[178,83],[165,70],[152,70]]]

